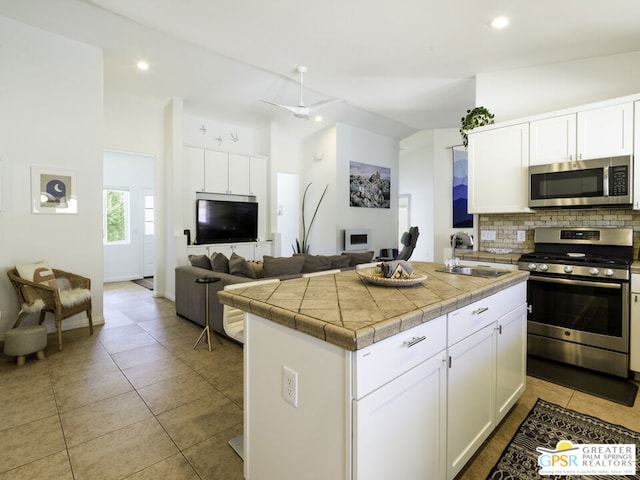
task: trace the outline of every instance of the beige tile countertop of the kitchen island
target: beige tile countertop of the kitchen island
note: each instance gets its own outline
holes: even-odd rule
[[[220,302],[356,351],[527,280],[438,272],[441,263],[412,262],[427,280],[411,287],[371,285],[356,271],[219,292]]]

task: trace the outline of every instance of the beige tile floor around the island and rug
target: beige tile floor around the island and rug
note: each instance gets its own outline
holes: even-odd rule
[[[0,480],[242,479],[242,348],[193,344],[201,328],[130,282],[107,284],[105,325],[50,337],[47,358],[0,357]],[[528,378],[527,390],[459,479],[484,479],[540,397],[640,430],[623,407]],[[274,479],[276,480],[276,479]]]

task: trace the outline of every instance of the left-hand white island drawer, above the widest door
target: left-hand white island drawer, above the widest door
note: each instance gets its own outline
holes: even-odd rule
[[[353,396],[359,399],[447,346],[446,316],[354,352]]]

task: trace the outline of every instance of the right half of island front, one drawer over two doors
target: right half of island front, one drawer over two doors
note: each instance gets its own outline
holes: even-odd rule
[[[520,283],[449,314],[448,479],[524,392],[525,298],[526,283]]]

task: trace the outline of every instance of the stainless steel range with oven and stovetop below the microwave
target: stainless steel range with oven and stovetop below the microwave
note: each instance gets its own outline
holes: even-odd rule
[[[519,262],[528,353],[628,377],[633,229],[537,228],[534,242]]]

